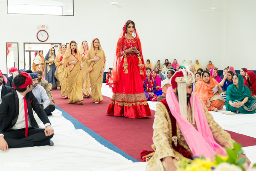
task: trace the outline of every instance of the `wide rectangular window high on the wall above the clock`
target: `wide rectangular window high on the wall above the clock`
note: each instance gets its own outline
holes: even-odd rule
[[[11,14],[74,15],[73,0],[7,0]]]

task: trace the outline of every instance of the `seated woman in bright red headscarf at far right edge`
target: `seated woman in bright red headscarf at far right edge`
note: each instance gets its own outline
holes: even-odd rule
[[[256,75],[253,71],[246,72],[245,75],[246,81],[244,81],[244,85],[246,85],[251,92],[253,98],[256,98]]]

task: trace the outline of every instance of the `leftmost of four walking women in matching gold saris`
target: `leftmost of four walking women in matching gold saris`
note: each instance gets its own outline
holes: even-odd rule
[[[63,78],[64,69],[66,66],[64,66],[64,64],[62,64],[62,60],[63,60],[66,50],[67,50],[66,45],[65,44],[61,45],[60,49],[58,50],[58,54],[55,58],[55,66],[56,66],[56,71],[58,74],[58,79],[59,79],[60,85],[61,85],[61,96],[63,97],[63,99],[68,99],[67,79]]]

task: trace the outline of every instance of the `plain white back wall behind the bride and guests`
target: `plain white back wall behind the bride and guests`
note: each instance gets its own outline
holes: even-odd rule
[[[111,0],[74,0],[74,16],[7,14],[6,0],[0,3],[1,38],[0,69],[6,73],[6,42],[19,43],[23,60],[23,42],[38,43],[39,24],[47,24],[47,43],[80,43],[99,38],[107,56],[106,68],[112,67],[117,39],[127,20],[134,20],[143,49],[144,59],[153,64],[168,58],[179,63],[198,59],[206,67],[208,61],[219,69],[233,65],[236,70],[253,70],[255,45],[255,0],[215,0],[223,12],[201,12],[212,7],[212,0],[118,0],[130,4],[102,7]],[[248,2],[245,2],[248,1]],[[241,8],[242,5],[242,8]],[[248,10],[248,8],[250,10]],[[248,13],[250,15],[248,16]],[[253,39],[254,38],[254,39]],[[243,64],[241,66],[241,54]],[[255,70],[255,69],[254,69]]]

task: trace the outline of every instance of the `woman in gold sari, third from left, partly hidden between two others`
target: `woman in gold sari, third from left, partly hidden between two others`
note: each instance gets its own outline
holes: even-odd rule
[[[82,58],[82,62],[83,62],[83,96],[85,98],[90,98],[91,94],[90,94],[90,78],[87,77],[87,72],[88,72],[88,64],[86,63],[86,55],[87,52],[89,51],[89,47],[88,47],[88,43],[87,41],[83,41],[81,44],[81,47],[79,49],[79,52],[81,53],[81,58]]]

